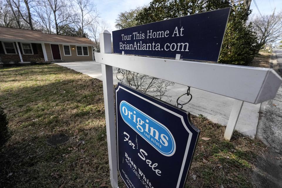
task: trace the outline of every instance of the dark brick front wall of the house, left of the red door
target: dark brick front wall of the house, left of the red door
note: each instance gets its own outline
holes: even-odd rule
[[[43,50],[42,50],[42,46],[41,44],[38,43],[31,43],[32,44],[32,48],[33,48],[33,55],[31,54],[23,54],[22,53],[22,49],[21,49],[21,45],[19,43],[19,47],[20,47],[20,51],[21,51],[21,56],[23,58],[23,61],[30,61],[31,59],[44,59],[44,55],[43,55]],[[2,44],[0,42],[1,48],[2,48]],[[15,44],[16,45],[16,44]],[[5,52],[3,50],[0,49],[0,58],[1,61],[21,61],[20,56],[19,56],[19,52],[16,49],[18,54],[5,54]]]

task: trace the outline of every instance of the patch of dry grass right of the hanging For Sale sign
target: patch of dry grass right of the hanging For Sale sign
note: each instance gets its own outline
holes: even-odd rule
[[[263,143],[244,137],[237,131],[228,142],[224,140],[225,127],[222,125],[202,115],[192,116],[192,121],[201,133],[186,187],[255,187],[251,174],[255,169],[256,156],[266,148]],[[201,137],[211,140],[205,141]],[[193,175],[197,176],[196,180]]]

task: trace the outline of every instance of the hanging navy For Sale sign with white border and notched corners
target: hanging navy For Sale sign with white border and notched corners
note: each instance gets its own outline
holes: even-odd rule
[[[118,83],[117,166],[128,188],[182,188],[199,130],[189,113]]]

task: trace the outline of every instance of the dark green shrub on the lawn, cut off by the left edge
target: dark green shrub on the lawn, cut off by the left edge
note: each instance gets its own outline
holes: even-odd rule
[[[2,147],[10,138],[7,116],[0,107],[0,147]]]

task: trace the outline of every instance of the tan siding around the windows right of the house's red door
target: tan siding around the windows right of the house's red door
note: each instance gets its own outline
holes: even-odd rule
[[[79,46],[79,45],[77,45]],[[74,48],[74,49],[73,49]],[[61,56],[63,61],[92,61],[92,46],[88,46],[88,55],[89,56],[77,56],[76,54],[76,46],[75,45],[70,45],[70,52],[71,56],[64,56],[64,51],[63,51],[63,45],[60,44],[60,51],[61,51]]]

